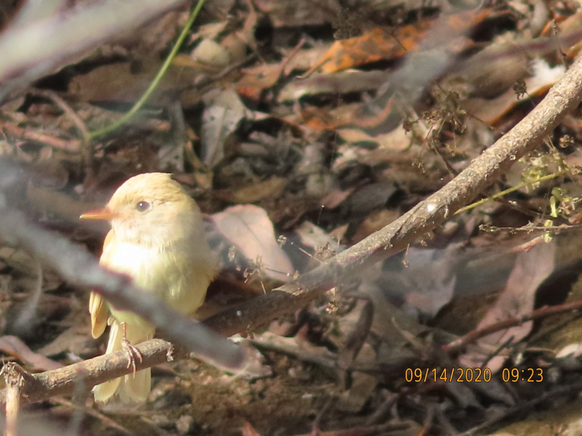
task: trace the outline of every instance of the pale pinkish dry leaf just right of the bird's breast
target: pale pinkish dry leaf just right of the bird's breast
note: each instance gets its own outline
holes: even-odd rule
[[[232,206],[212,215],[212,220],[218,231],[247,259],[262,262],[262,273],[281,281],[293,277],[293,265],[279,246],[273,224],[264,209],[254,205]]]

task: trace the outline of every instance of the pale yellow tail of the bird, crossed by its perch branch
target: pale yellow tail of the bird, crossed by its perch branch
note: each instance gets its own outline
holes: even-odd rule
[[[154,330],[144,328],[139,324],[126,323],[126,339],[132,345],[147,341],[154,337]],[[123,349],[123,328],[121,323],[113,320],[109,330],[109,341],[107,342],[106,353],[113,353]],[[135,358],[135,356],[133,356]],[[93,388],[95,401],[107,402],[115,394],[119,395],[121,401],[125,403],[143,402],[147,399],[151,389],[151,369],[146,368],[136,373],[127,374],[105,383],[98,384]]]

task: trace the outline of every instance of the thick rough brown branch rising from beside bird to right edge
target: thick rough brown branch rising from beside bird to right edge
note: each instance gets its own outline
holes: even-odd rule
[[[444,223],[455,210],[505,174],[517,159],[539,146],[560,120],[579,104],[581,95],[582,58],[574,62],[534,110],[440,190],[393,223],[297,280],[211,317],[206,321],[207,326],[223,334],[253,330],[293,312],[371,263],[402,251]]]

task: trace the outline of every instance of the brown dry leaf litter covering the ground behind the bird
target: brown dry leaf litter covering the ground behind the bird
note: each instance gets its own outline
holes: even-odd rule
[[[208,214],[221,258],[200,318],[328,262],[445,185],[559,80],[582,36],[569,2],[531,2],[536,17],[520,2],[210,3],[122,129],[83,137],[139,98],[186,11],[107,37],[82,59],[65,56],[3,102],[0,120],[0,158],[24,168],[7,195],[95,255],[106,229],[81,226],[79,213],[133,174],[175,173]],[[19,25],[16,14],[6,11],[8,24]],[[567,227],[580,198],[580,141],[573,113],[482,196],[523,188],[452,217],[288,317],[240,332],[261,352],[258,375],[166,364],[145,405],[105,410],[107,419],[88,413],[76,433],[446,435],[509,420],[506,431],[519,434],[520,416],[538,406],[546,415],[528,434],[574,428],[579,417],[566,419],[556,402],[560,389],[577,394],[579,320],[549,310],[576,302],[560,274],[580,260]],[[538,182],[552,171],[564,176]],[[540,235],[545,243],[512,252]],[[6,361],[40,371],[103,352],[88,335],[85,290],[6,244],[0,284]],[[22,320],[33,320],[28,332]],[[538,370],[544,380],[530,380]],[[492,379],[469,380],[477,373]],[[49,420],[76,420],[73,408],[51,404]]]

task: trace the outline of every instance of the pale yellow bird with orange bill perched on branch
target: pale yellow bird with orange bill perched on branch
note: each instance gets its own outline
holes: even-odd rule
[[[196,312],[215,275],[216,260],[204,235],[196,202],[170,174],[145,173],[123,183],[103,209],[82,219],[108,220],[100,264],[128,274],[134,284],[186,315]],[[91,292],[91,334],[100,337],[107,324],[107,353],[127,349],[154,337],[155,327],[140,316],[119,310]],[[128,344],[129,349],[128,349]],[[134,356],[135,357],[135,356]],[[95,401],[119,395],[123,402],[145,401],[151,371],[144,369],[93,388]]]

